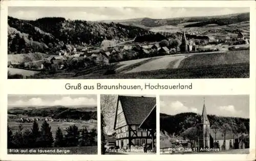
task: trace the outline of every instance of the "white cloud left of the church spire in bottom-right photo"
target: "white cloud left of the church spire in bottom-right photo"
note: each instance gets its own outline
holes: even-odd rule
[[[198,113],[198,110],[196,108],[185,106],[180,101],[172,101],[172,102],[160,101],[160,111],[161,113],[168,114],[168,115],[176,115],[179,113],[187,113],[187,112]]]

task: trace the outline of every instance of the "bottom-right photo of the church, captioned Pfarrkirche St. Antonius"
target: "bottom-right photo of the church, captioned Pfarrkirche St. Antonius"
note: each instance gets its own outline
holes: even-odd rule
[[[160,154],[249,154],[249,95],[160,96]]]

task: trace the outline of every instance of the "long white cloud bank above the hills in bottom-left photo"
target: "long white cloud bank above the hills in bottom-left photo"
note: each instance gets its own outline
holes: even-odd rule
[[[16,100],[8,102],[11,106],[39,106],[39,105],[96,105],[97,101],[94,98],[77,97],[71,98],[69,96],[62,97],[57,100],[46,100],[39,97],[30,98],[27,101]]]

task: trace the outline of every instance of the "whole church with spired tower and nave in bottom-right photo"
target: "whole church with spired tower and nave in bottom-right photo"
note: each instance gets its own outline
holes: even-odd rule
[[[203,104],[203,113],[201,119],[201,135],[199,135],[199,148],[220,148],[220,150],[241,149],[247,147],[245,145],[245,135],[235,135],[231,131],[227,131],[226,135],[217,129],[210,128],[210,122],[207,117],[205,102]],[[217,143],[217,147],[214,145]],[[215,144],[216,144],[215,143]]]

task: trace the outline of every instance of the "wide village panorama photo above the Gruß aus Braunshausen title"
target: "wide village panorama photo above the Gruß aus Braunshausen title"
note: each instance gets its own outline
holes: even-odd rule
[[[249,12],[9,7],[8,78],[249,78]]]

